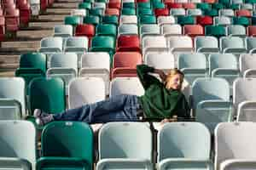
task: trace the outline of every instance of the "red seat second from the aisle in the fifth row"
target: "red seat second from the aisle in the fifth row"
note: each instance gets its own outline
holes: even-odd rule
[[[88,37],[88,40],[89,40],[88,44],[90,48],[91,38],[95,36],[95,27],[90,24],[80,24],[76,26],[75,36]]]

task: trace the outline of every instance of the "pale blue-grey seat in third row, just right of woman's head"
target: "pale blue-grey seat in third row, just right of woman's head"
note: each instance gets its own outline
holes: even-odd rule
[[[177,68],[183,71],[185,79],[192,86],[196,78],[207,77],[207,57],[201,53],[178,54]]]

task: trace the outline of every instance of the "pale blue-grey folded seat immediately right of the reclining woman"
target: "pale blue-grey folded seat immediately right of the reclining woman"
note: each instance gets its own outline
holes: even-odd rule
[[[196,122],[214,132],[219,122],[232,121],[230,86],[223,78],[198,78],[192,85],[192,108]]]

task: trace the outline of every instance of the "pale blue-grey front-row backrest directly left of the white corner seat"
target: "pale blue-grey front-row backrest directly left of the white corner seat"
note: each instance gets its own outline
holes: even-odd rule
[[[166,123],[157,141],[158,162],[167,158],[210,159],[211,135],[200,122]]]

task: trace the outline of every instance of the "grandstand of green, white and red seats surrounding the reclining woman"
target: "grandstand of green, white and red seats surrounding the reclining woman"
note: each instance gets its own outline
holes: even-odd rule
[[[256,169],[255,0],[1,0],[0,169]],[[193,119],[51,122],[185,75]]]

